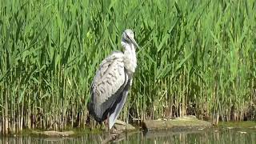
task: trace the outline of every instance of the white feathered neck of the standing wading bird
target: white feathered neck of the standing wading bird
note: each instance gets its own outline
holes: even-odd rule
[[[129,74],[133,74],[137,67],[137,58],[134,44],[122,43],[125,48],[123,62]]]

